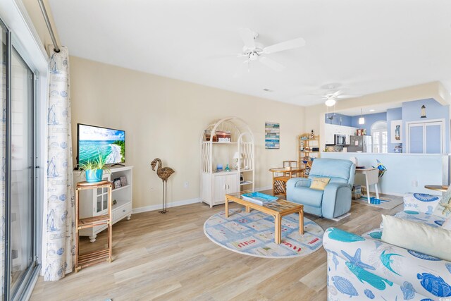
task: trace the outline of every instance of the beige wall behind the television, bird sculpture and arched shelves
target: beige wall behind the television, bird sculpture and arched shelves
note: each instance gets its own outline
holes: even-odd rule
[[[133,172],[133,207],[161,203],[161,180],[150,162],[159,157],[175,174],[168,202],[199,197],[199,137],[210,121],[237,116],[256,140],[256,188],[271,186],[268,168],[296,159],[304,108],[190,82],[70,57],[73,149],[76,124],[126,132],[126,161]],[[280,123],[280,149],[264,149],[264,123]],[[189,182],[189,188],[183,184]]]

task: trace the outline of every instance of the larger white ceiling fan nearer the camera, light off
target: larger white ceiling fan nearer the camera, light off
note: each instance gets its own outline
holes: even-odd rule
[[[274,61],[273,59],[269,59],[266,55],[273,54],[279,51],[303,47],[305,45],[305,40],[302,39],[302,37],[298,37],[297,39],[290,39],[285,42],[280,42],[278,44],[264,47],[259,42],[255,42],[255,39],[259,37],[259,34],[257,32],[254,32],[249,28],[241,28],[239,32],[242,42],[245,43],[245,46],[242,47],[242,53],[238,54],[238,57],[247,58],[244,63],[247,63],[248,71],[250,70],[251,61],[257,60],[273,70],[282,71],[283,69],[285,69],[285,66],[283,66],[281,63],[278,63],[277,61]]]

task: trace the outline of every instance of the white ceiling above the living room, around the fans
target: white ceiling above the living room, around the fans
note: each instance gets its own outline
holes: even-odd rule
[[[49,0],[70,54],[169,78],[309,106],[334,82],[371,94],[440,80],[451,90],[450,0]],[[276,72],[230,54],[239,28],[268,46]],[[273,90],[264,92],[263,89]]]

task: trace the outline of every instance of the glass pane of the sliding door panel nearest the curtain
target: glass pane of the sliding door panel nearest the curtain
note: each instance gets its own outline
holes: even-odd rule
[[[10,279],[15,292],[27,279],[33,254],[33,73],[17,51],[11,55]]]

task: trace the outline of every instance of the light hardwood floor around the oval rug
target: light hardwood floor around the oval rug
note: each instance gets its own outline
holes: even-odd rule
[[[269,192],[269,191],[268,191]],[[268,193],[266,192],[266,193]],[[231,208],[238,207],[230,204]],[[31,300],[326,300],[326,252],[295,259],[250,257],[219,247],[204,235],[204,221],[223,211],[190,204],[133,214],[113,226],[113,262],[69,274],[61,281],[39,277]],[[341,221],[305,216],[324,229],[335,226],[362,234],[381,223],[381,214],[395,214],[352,203]],[[106,244],[106,231],[82,252]]]

